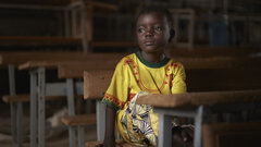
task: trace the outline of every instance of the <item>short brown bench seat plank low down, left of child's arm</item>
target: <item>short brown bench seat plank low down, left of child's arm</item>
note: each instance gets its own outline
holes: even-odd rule
[[[96,114],[65,115],[61,118],[61,121],[67,126],[96,124]]]

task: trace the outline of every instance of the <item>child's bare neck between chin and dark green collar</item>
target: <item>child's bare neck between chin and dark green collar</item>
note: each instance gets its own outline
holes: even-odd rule
[[[152,63],[159,63],[160,61],[165,59],[164,52],[148,53],[148,52],[141,51],[141,56],[147,62],[152,62]]]

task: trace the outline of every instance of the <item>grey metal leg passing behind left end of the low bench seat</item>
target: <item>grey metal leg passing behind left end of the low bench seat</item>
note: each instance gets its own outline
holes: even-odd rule
[[[66,91],[67,91],[69,115],[75,115],[73,78],[66,79],[66,88],[67,88]],[[69,136],[70,136],[70,147],[75,147],[75,145],[76,145],[76,127],[74,127],[74,126],[69,127]]]

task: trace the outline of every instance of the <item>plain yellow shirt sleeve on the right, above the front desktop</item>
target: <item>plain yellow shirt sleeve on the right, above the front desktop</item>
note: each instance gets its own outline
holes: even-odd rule
[[[174,70],[173,79],[172,79],[172,94],[182,94],[187,91],[187,86],[185,83],[186,73],[183,64],[178,63]]]

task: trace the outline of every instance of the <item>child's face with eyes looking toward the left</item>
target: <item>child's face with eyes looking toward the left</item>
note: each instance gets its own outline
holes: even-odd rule
[[[160,13],[145,13],[137,21],[137,39],[144,52],[162,51],[170,38],[170,27],[166,19]]]

